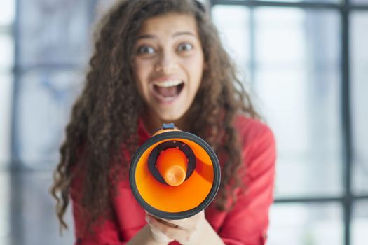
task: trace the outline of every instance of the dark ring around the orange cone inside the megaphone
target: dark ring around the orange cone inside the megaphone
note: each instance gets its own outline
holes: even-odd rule
[[[168,184],[168,183],[166,183],[166,181],[163,179],[163,176],[158,172],[156,162],[157,162],[158,155],[160,155],[161,152],[167,149],[170,149],[170,148],[179,149],[186,155],[186,158],[188,159],[188,167],[186,169],[185,180],[188,179],[189,176],[191,176],[191,174],[193,173],[194,169],[196,169],[196,156],[194,155],[193,151],[188,145],[186,145],[182,141],[165,141],[159,144],[158,146],[156,146],[154,150],[151,151],[151,154],[149,155],[149,159],[148,159],[149,171],[151,172],[151,174],[158,181],[160,181],[161,183],[165,183],[165,184]]]

